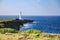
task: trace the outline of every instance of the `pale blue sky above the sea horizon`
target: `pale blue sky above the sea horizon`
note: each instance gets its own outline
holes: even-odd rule
[[[0,15],[58,15],[60,0],[0,0]]]

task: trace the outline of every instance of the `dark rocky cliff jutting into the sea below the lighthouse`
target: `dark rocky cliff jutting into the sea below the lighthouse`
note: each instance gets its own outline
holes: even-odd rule
[[[0,26],[0,28],[13,28],[13,29],[19,30],[20,29],[20,27],[19,27],[20,25],[23,25],[23,24],[29,23],[29,22],[33,22],[33,20],[26,20],[26,19],[19,20],[19,19],[15,19],[15,20],[12,20],[12,21],[0,22],[0,24],[3,24],[2,26]]]

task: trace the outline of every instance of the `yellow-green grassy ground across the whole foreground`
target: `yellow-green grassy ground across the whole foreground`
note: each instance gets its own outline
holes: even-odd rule
[[[0,40],[60,40],[60,34],[46,34],[36,29],[18,32],[10,28],[0,29],[0,31],[1,30],[5,31],[2,31],[3,33],[0,32]]]

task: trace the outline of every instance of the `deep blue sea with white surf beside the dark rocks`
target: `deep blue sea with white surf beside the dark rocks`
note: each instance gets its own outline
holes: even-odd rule
[[[0,16],[0,18],[18,18],[18,16]],[[46,33],[60,34],[60,16],[22,16],[23,19],[34,20],[21,25],[22,30],[37,29]]]

